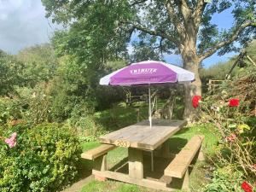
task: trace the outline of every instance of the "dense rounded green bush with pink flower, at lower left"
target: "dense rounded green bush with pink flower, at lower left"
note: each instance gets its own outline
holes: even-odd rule
[[[17,132],[14,148],[0,141],[0,191],[56,191],[77,175],[81,148],[73,131],[58,124],[1,127],[0,136]]]

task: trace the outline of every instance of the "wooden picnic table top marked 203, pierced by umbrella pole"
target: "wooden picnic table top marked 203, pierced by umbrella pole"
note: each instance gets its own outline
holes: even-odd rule
[[[126,126],[118,131],[113,131],[99,138],[101,143],[117,146],[154,150],[166,142],[179,131],[186,120],[153,119],[150,128],[148,120],[143,120],[135,125]]]

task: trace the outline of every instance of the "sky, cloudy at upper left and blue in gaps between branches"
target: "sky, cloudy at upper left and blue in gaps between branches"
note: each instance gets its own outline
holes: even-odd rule
[[[49,42],[53,32],[61,26],[52,24],[45,17],[44,6],[40,0],[0,0],[0,49],[9,54],[17,54],[20,49]],[[230,11],[214,15],[212,22],[219,28],[232,26]],[[218,61],[227,61],[235,53],[223,56],[212,55],[203,61],[204,67],[210,67]],[[171,63],[182,63],[179,55],[165,55]]]

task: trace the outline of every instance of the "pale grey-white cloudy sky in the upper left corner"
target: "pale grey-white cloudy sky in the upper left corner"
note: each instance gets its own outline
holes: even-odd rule
[[[0,49],[16,54],[34,44],[49,42],[57,26],[45,17],[40,0],[0,0]]]

